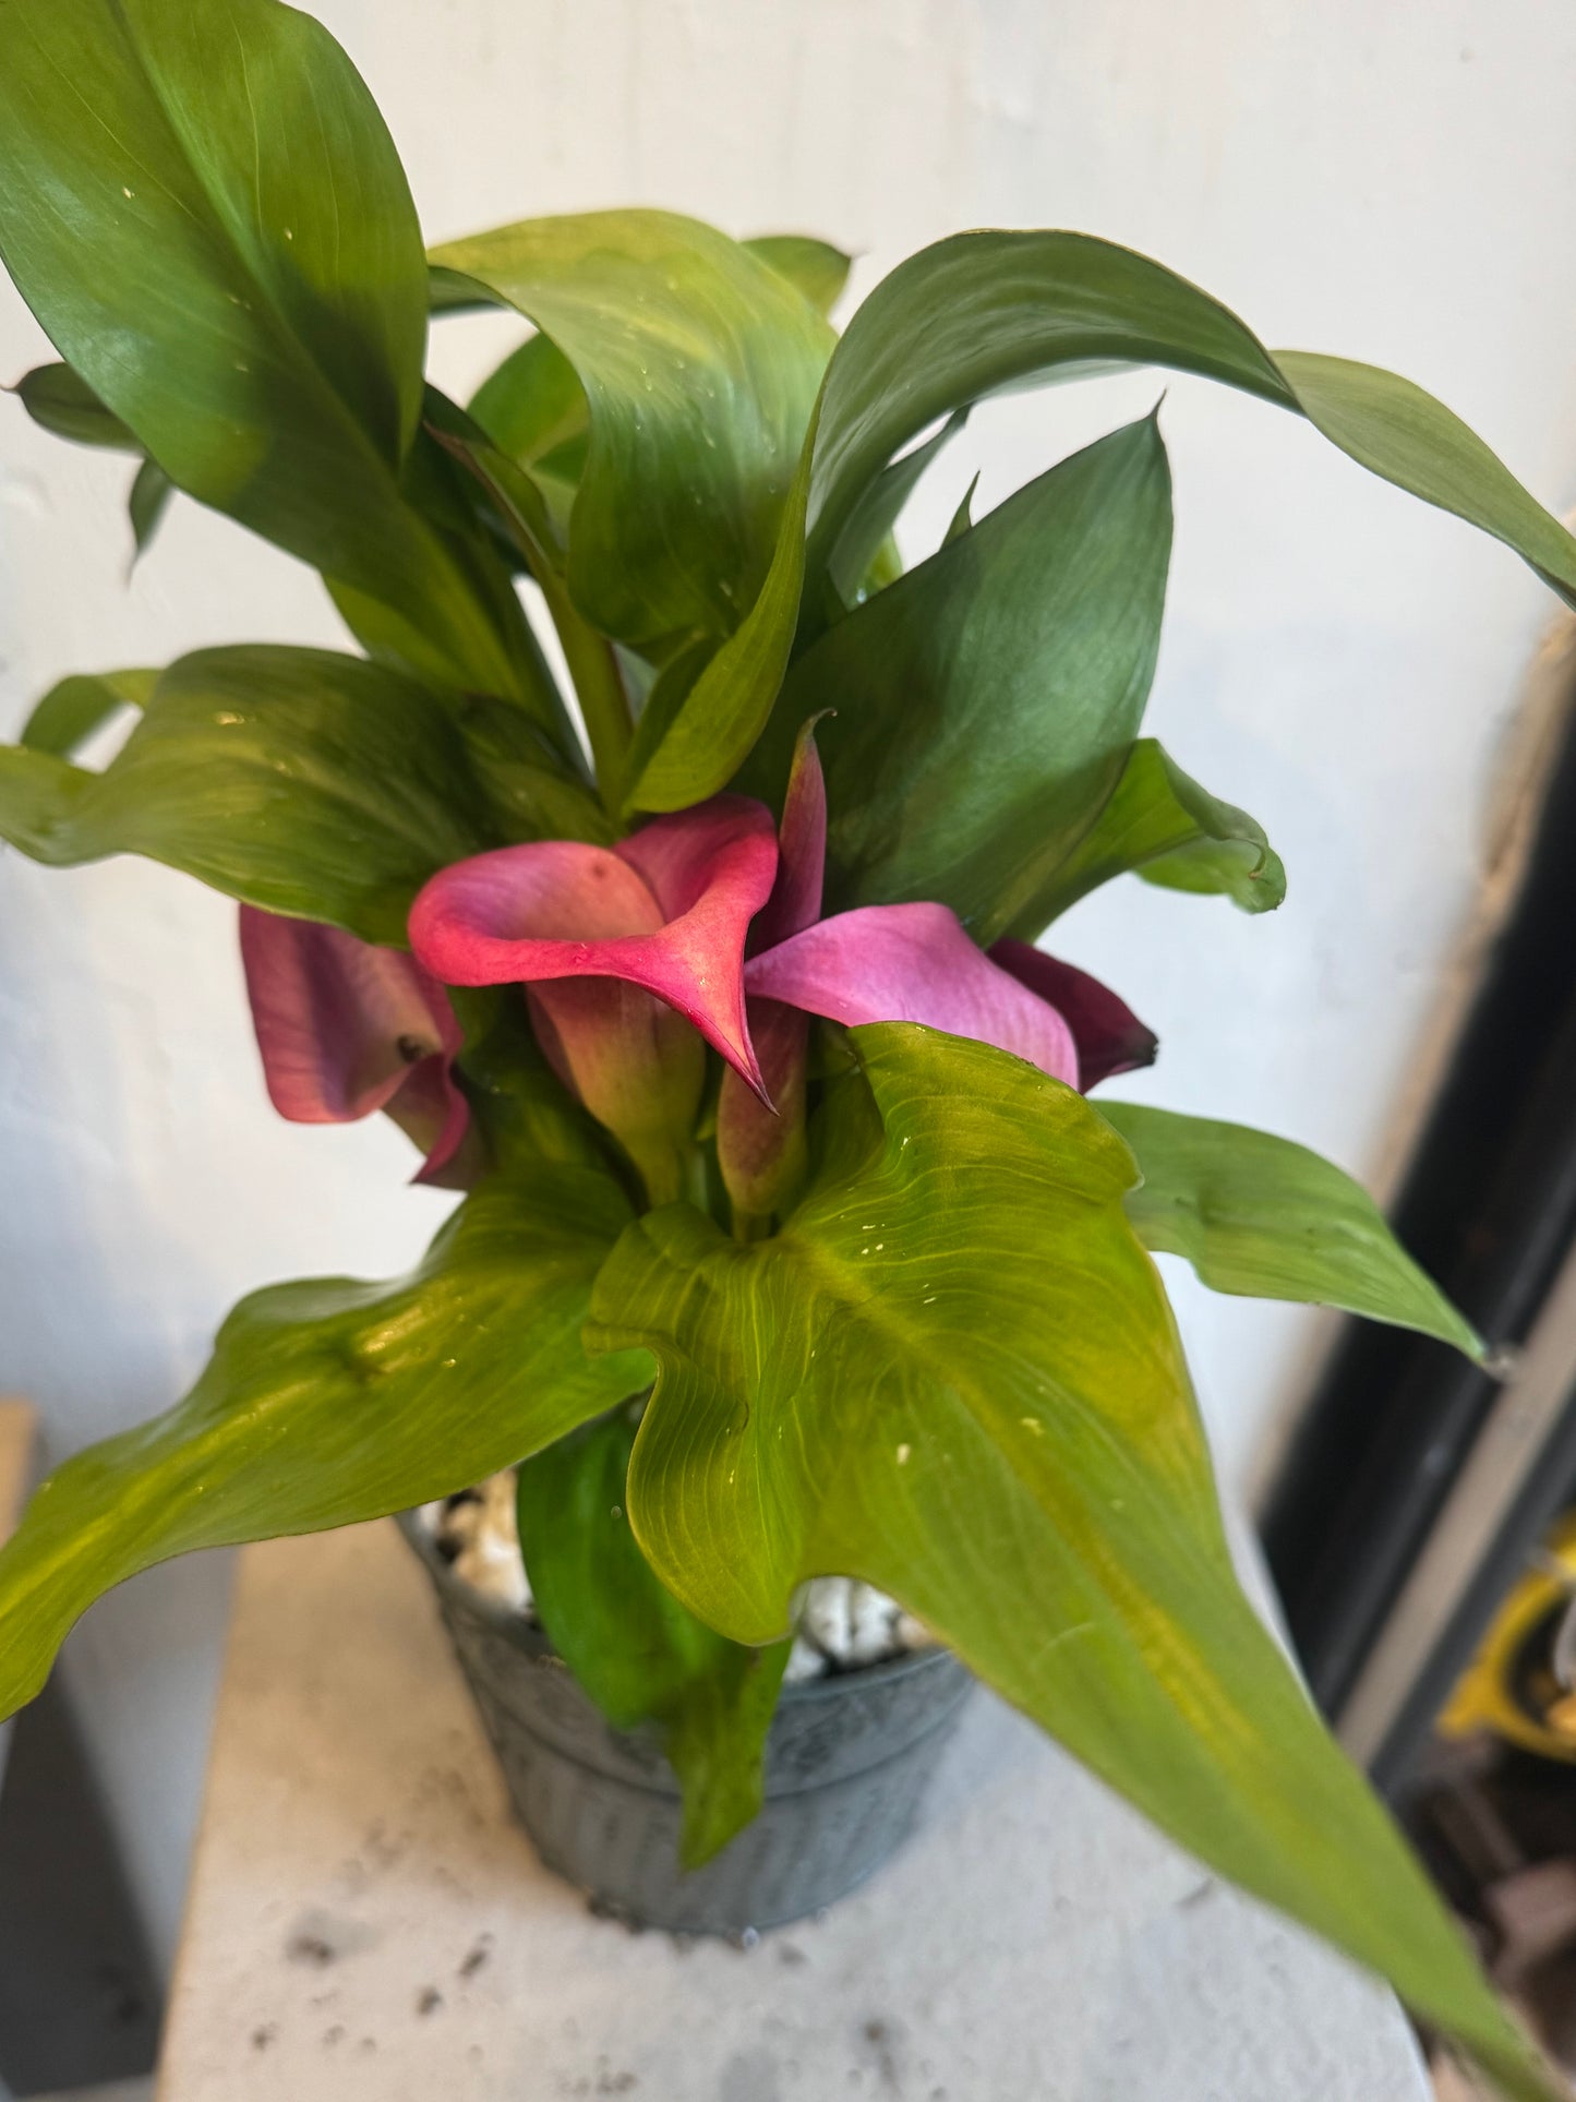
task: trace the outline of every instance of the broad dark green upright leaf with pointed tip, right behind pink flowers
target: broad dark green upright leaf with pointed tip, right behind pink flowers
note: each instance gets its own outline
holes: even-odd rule
[[[836,904],[935,898],[994,942],[1118,786],[1170,553],[1154,418],[1040,475],[794,664],[746,780],[820,708]]]

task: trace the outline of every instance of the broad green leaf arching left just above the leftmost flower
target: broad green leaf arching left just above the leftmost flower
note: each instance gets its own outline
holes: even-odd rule
[[[74,736],[95,700],[126,698],[126,675],[97,696],[57,687],[42,727]],[[532,753],[536,774],[517,757],[525,778],[494,761],[490,738],[519,753],[530,736],[513,710],[479,702],[469,721],[471,734],[424,687],[359,658],[200,650],[160,675],[103,774],[40,748],[38,719],[32,744],[0,746],[0,839],[55,866],[145,853],[271,912],[401,944],[427,877],[530,837],[532,780],[555,788],[555,820],[588,803],[546,753]]]

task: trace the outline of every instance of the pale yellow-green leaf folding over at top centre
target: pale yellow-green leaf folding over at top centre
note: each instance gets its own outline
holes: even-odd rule
[[[832,332],[738,242],[672,212],[536,219],[433,252],[574,366],[590,448],[569,589],[605,635],[725,637],[771,563]]]

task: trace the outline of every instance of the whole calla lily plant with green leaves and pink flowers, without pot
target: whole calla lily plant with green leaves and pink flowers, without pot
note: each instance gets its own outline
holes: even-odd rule
[[[981,395],[1156,364],[1307,416],[1565,597],[1576,542],[1416,387],[1271,355],[1107,242],[939,242],[841,338],[811,240],[601,212],[429,259],[309,17],[4,21],[0,250],[61,355],[23,406],[139,456],[139,540],[177,488],[315,565],[353,647],[67,679],[0,750],[0,834],[240,900],[279,1110],[387,1110],[464,1196],[412,1278],[242,1301],[177,1408],[38,1490],[0,1709],[151,1562],[519,1467],[546,1633],[616,1724],[660,1722],[691,1860],[759,1801],[796,1593],[862,1579],[1551,2094],[1242,1598],[1149,1251],[1481,1345],[1326,1162],[1091,1099],[1154,1038],[1034,946],[1120,872],[1282,895],[1252,818],[1141,736],[1160,427],[965,504],[910,572],[891,526]],[[422,355],[475,305],[536,332],[462,410]]]

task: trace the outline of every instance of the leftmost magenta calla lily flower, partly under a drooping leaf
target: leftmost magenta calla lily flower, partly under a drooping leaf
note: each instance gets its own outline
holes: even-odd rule
[[[242,906],[242,965],[279,1116],[349,1125],[387,1110],[427,1154],[414,1179],[462,1186],[471,1106],[454,1080],[460,1030],[437,980],[397,948],[256,906]]]

